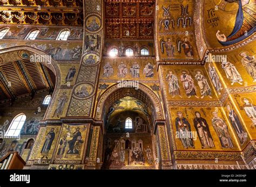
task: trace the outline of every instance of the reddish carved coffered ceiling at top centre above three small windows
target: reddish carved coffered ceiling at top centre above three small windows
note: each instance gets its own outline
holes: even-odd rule
[[[153,39],[154,0],[105,0],[107,39]]]

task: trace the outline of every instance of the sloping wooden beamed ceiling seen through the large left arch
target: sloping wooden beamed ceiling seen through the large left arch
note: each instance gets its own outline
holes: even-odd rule
[[[0,103],[53,91],[55,74],[41,63],[18,60],[0,66]]]

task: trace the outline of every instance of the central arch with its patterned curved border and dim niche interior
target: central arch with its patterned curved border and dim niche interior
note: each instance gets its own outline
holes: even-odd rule
[[[104,161],[104,169],[114,169],[118,167],[122,167],[122,169],[158,168],[158,164],[148,161],[146,156],[144,157],[144,161],[138,161],[131,156],[133,155],[133,152],[145,153],[148,148],[154,159],[158,157],[159,147],[156,146],[156,142],[154,141],[156,140],[154,125],[156,125],[156,121],[164,120],[163,108],[156,93],[141,83],[139,83],[137,88],[122,88],[119,83],[116,83],[106,89],[98,98],[95,119],[103,121],[102,128],[104,129],[105,140],[103,140],[101,145],[102,150],[105,150],[105,152],[100,155],[100,157],[102,157]],[[120,100],[122,103],[117,106],[116,103],[120,102]],[[129,105],[126,105],[125,103],[127,100],[130,102]],[[134,103],[142,104],[142,111],[149,112],[147,114],[150,114],[150,117],[147,118],[148,116],[146,116],[142,111],[133,110]],[[136,104],[135,106],[137,107],[138,105]],[[114,105],[119,107],[119,109],[123,107],[124,110],[120,110],[120,112],[117,111],[116,113],[113,112],[110,114],[109,118],[107,118]],[[124,120],[129,118],[131,119],[133,127],[131,129],[124,128]],[[123,137],[123,139],[114,138],[122,136],[122,133],[129,133],[129,137]],[[109,143],[107,139],[112,143]],[[112,164],[112,162],[107,158],[111,157],[112,154],[115,155],[116,153],[129,155],[129,159],[126,158],[125,164],[122,161],[120,161],[120,163],[118,162],[118,164]],[[142,162],[146,165],[142,164]]]

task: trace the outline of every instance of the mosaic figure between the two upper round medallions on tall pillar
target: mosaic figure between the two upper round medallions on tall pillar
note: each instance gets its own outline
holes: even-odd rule
[[[99,52],[101,37],[97,34],[88,34],[85,37],[85,51]]]

